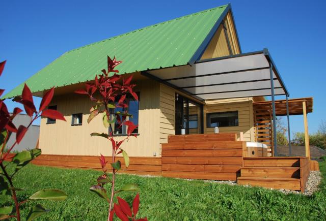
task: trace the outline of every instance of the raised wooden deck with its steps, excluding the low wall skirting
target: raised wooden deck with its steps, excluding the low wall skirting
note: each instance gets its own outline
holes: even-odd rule
[[[308,157],[248,157],[249,150],[234,134],[169,136],[162,144],[162,176],[305,191]]]

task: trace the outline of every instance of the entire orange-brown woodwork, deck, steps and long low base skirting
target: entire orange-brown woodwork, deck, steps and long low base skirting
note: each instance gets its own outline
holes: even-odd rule
[[[130,157],[128,168],[123,158],[118,157],[122,162],[120,172],[237,180],[240,185],[304,191],[310,168],[318,168],[318,163],[309,161],[308,157],[248,157],[251,149],[247,148],[246,142],[236,140],[235,134],[171,135],[168,143],[162,144],[161,157]],[[32,163],[61,168],[101,169],[98,156],[41,154]],[[107,168],[110,167],[107,164]]]

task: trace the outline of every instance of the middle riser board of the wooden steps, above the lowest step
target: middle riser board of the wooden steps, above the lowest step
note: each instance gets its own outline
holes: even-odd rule
[[[300,178],[299,169],[247,169],[241,168],[241,176],[246,177],[281,177]]]

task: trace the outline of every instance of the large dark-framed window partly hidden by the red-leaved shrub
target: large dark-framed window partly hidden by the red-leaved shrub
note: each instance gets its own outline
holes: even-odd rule
[[[139,92],[137,92],[138,98],[140,98]],[[119,99],[117,99],[119,100]],[[128,107],[127,108],[116,108],[115,112],[127,112],[128,114],[131,114],[132,117],[127,117],[126,120],[130,120],[133,122],[133,124],[138,125],[138,117],[139,117],[139,101],[135,101],[132,97],[129,97],[126,99]],[[138,99],[139,100],[139,99]],[[113,128],[113,133],[115,135],[126,135],[127,134],[127,127],[123,125],[121,128],[119,128],[119,123],[116,121]],[[134,134],[138,134],[138,128],[136,128],[133,131]]]

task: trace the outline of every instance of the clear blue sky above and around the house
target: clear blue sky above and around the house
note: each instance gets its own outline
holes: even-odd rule
[[[290,97],[314,98],[308,123],[309,131],[316,132],[320,120],[326,119],[326,1],[5,0],[0,13],[0,60],[7,59],[7,66],[0,88],[9,92],[65,51],[229,2],[242,52],[267,47]],[[9,109],[16,105],[6,103]],[[292,132],[303,131],[302,116],[290,119]]]

